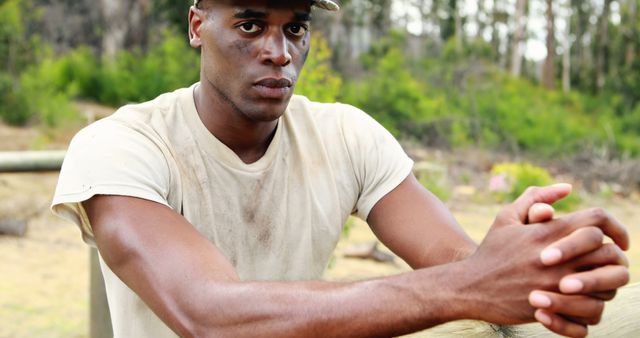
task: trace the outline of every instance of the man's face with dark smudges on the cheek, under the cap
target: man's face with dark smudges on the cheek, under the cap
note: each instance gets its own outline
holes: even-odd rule
[[[250,121],[280,117],[309,51],[310,2],[205,0],[199,7],[191,45],[202,49],[206,92]]]

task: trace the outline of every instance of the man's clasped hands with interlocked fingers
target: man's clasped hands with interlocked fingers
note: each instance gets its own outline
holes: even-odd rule
[[[587,326],[600,321],[604,302],[628,283],[625,227],[599,208],[554,218],[551,204],[570,192],[568,184],[529,188],[496,217],[471,257],[481,263],[488,258],[493,276],[501,276],[485,282],[496,303],[505,305],[503,316],[497,311],[489,321],[517,324],[533,314],[557,334],[584,337]],[[605,236],[613,243],[604,243]],[[518,293],[522,290],[534,290],[526,302]]]

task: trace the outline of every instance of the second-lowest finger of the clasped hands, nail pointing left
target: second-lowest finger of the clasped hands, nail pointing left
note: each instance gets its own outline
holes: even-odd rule
[[[600,299],[539,290],[529,294],[529,304],[586,325],[598,324],[604,311],[604,301]]]

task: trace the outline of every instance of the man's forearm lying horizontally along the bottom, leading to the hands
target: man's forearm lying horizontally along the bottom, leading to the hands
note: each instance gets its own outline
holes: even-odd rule
[[[456,282],[463,272],[447,264],[355,283],[202,284],[178,296],[180,317],[195,336],[397,336],[475,318]]]

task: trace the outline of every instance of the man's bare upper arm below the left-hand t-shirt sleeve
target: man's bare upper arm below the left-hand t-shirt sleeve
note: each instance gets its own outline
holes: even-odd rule
[[[165,205],[98,195],[83,206],[105,263],[177,332],[206,282],[238,280],[226,257]]]

